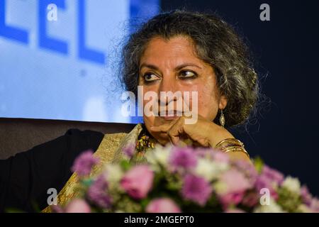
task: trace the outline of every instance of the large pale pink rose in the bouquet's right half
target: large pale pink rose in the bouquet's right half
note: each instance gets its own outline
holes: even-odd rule
[[[226,185],[225,191],[221,194],[245,192],[246,189],[252,187],[248,179],[241,172],[234,169],[223,173],[220,177],[220,182]]]

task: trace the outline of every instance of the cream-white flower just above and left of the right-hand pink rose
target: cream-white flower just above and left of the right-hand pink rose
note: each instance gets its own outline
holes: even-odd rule
[[[225,165],[224,165],[225,164]],[[205,178],[208,181],[216,179],[220,172],[227,169],[226,163],[212,162],[203,158],[198,159],[197,166],[195,169],[196,175]]]

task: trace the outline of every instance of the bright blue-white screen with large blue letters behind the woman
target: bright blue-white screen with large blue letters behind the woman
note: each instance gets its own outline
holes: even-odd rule
[[[0,0],[0,117],[130,122],[113,62],[159,0]]]

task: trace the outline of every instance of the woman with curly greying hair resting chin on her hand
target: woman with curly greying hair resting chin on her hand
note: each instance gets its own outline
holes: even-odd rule
[[[70,167],[74,158],[87,149],[94,150],[101,160],[91,175],[106,162],[123,157],[123,150],[130,144],[136,144],[136,152],[145,153],[143,148],[156,143],[192,143],[218,148],[234,159],[249,160],[242,143],[225,128],[244,123],[258,96],[257,74],[233,28],[209,14],[162,13],[130,35],[122,54],[121,81],[128,91],[137,94],[140,85],[143,94],[196,92],[196,100],[184,100],[189,101],[187,107],[196,114],[196,121],[186,123],[193,116],[177,109],[178,100],[173,96],[155,102],[157,109],[170,104],[173,109],[164,111],[164,116],[144,112],[144,124],[128,134],[70,130],[61,138],[1,160],[1,210],[16,207],[33,211],[33,204],[44,209],[49,188],[60,192],[59,204],[66,204],[76,196],[77,187],[77,176],[72,175]]]

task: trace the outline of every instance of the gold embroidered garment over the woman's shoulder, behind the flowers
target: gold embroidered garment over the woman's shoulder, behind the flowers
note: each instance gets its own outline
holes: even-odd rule
[[[99,148],[94,153],[95,157],[99,157],[99,164],[95,165],[90,173],[90,177],[94,175],[98,175],[99,172],[103,170],[103,167],[111,162],[118,162],[121,158],[125,158],[123,155],[123,148],[128,145],[136,143],[138,140],[138,135],[142,131],[142,125],[138,124],[133,128],[130,133],[114,133],[114,134],[106,134],[101,141]],[[57,204],[60,206],[65,206],[71,199],[74,199],[78,196],[77,187],[79,185],[77,174],[73,173],[73,175],[69,178],[65,186],[62,188],[60,193],[57,195]],[[42,212],[50,213],[51,207],[47,206],[47,208],[43,209]]]

